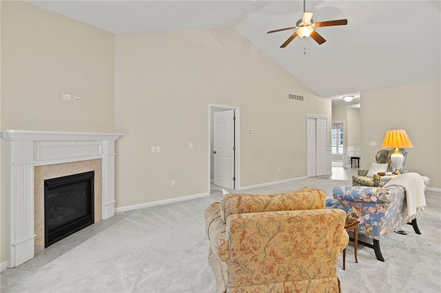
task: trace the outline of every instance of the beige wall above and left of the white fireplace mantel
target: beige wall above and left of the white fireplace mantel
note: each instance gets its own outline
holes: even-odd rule
[[[63,94],[81,102],[63,100]],[[1,1],[1,128],[114,132],[114,35],[21,1]],[[6,261],[1,140],[1,262]]]

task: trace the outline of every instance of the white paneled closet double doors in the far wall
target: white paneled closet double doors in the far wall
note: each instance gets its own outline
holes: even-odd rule
[[[307,116],[307,177],[327,174],[327,117]]]

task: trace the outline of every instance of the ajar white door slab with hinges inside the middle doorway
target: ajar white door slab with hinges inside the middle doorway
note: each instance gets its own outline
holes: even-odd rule
[[[234,110],[214,113],[213,181],[234,189]]]

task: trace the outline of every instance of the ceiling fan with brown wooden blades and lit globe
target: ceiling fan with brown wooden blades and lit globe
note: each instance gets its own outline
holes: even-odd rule
[[[323,39],[322,36],[314,28],[321,28],[324,26],[334,26],[334,25],[347,25],[347,19],[338,19],[335,21],[320,21],[318,23],[314,23],[312,20],[312,15],[314,12],[306,12],[305,11],[305,0],[303,0],[303,16],[302,19],[299,19],[296,23],[296,26],[293,26],[291,28],[280,28],[279,30],[270,30],[267,32],[267,34],[271,34],[273,32],[282,32],[283,30],[294,30],[297,29],[294,34],[291,34],[291,36],[283,43],[280,47],[284,48],[289,43],[291,43],[292,40],[296,36],[301,36],[303,39],[306,39],[308,36],[311,36],[312,39],[314,39],[318,45],[322,45],[322,43],[325,43],[326,40]]]

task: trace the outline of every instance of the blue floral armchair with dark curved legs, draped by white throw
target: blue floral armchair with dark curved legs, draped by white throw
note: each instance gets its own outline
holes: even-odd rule
[[[391,178],[391,176],[384,176],[384,179],[391,180]],[[429,185],[429,178],[424,176],[420,178],[423,188],[426,188]],[[381,181],[381,185],[385,183],[386,180]],[[380,250],[382,237],[404,224],[411,224],[413,230],[421,234],[416,221],[420,210],[418,213],[409,215],[406,189],[403,186],[387,186],[386,188],[341,186],[334,188],[333,197],[334,199],[327,199],[327,207],[344,210],[348,218],[360,222],[358,235],[371,238],[373,243],[366,243],[360,239],[358,243],[373,248],[380,261],[384,261]]]

